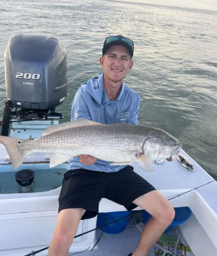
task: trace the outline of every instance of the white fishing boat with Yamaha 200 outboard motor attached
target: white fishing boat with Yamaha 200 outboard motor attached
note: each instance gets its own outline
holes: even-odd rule
[[[63,104],[67,96],[66,56],[65,47],[57,37],[32,34],[11,37],[5,52],[8,99],[1,135],[9,135],[12,122],[10,137],[36,139],[45,128],[58,124],[59,119],[62,121],[63,116],[55,112],[55,107]],[[48,255],[58,216],[61,180],[68,167],[68,162],[64,162],[49,168],[49,162],[49,152],[34,153],[13,170],[7,150],[0,144],[1,256]],[[172,162],[162,160],[154,163],[154,173],[144,172],[138,163],[132,166],[175,209],[190,209],[188,219],[165,234],[177,237],[177,243],[180,240],[181,244],[190,247],[189,256],[217,255],[217,182],[184,150]],[[34,180],[30,181],[33,176]],[[54,176],[55,182],[52,183],[50,180]],[[43,186],[40,185],[42,183]],[[80,221],[69,255],[78,252],[85,256],[132,253],[141,234],[142,226],[138,225],[145,222],[141,221],[144,216],[141,210],[137,207],[126,214],[124,206],[103,198],[99,204],[99,216]],[[128,225],[121,232],[115,230],[109,234],[107,226],[104,226],[104,217],[104,227],[96,230],[101,225],[98,222],[103,213],[108,214],[101,215],[102,219],[102,216],[112,216],[114,220],[126,216]],[[119,223],[115,222],[116,229],[120,229]],[[159,241],[148,256],[153,256],[158,250],[155,247],[162,245],[162,240]],[[161,252],[158,255],[166,253],[161,249],[158,251]],[[178,255],[175,253],[168,256]]]

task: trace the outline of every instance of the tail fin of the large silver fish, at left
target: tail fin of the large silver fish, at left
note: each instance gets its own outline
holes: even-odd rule
[[[7,153],[9,154],[9,157],[11,159],[12,169],[17,169],[23,163],[23,160],[28,157],[28,155],[21,152],[18,146],[20,143],[26,142],[26,140],[7,136],[0,136],[0,142],[7,149]]]

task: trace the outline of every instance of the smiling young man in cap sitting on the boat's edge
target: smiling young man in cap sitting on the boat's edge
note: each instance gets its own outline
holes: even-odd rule
[[[71,120],[137,124],[140,96],[122,82],[133,66],[134,43],[120,35],[110,36],[105,39],[102,53],[99,62],[104,72],[78,89],[72,102]],[[109,164],[90,155],[78,155],[71,160],[64,174],[49,256],[68,255],[80,220],[97,215],[101,198],[122,204],[127,210],[140,206],[152,215],[136,250],[129,255],[146,256],[172,222],[173,207],[151,184],[130,165]]]

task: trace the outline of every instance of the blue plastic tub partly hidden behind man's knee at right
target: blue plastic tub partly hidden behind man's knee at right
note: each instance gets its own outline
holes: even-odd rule
[[[180,224],[183,224],[191,215],[191,210],[189,207],[177,207],[174,208],[175,217],[169,227],[164,231],[164,233],[171,230],[173,227],[177,227]],[[147,211],[142,212],[143,220],[145,223],[151,218],[151,215]]]

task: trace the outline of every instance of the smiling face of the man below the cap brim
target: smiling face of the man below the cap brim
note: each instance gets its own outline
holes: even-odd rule
[[[110,47],[99,62],[104,69],[105,76],[112,82],[122,81],[132,68],[130,52],[121,45]]]

